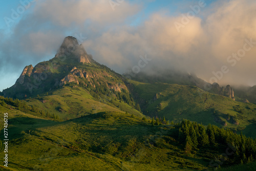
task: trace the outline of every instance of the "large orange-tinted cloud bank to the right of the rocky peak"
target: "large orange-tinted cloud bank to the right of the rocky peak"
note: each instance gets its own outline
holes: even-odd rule
[[[139,55],[146,53],[154,60],[154,67],[195,72],[209,81],[212,72],[227,66],[229,72],[218,80],[221,84],[256,84],[254,79],[256,47],[246,52],[243,59],[232,67],[228,56],[243,49],[245,39],[256,41],[256,3],[252,1],[218,1],[211,14],[195,16],[178,32],[174,23],[179,16],[166,16],[162,12],[152,14],[137,28],[123,27],[120,31],[108,31],[84,46],[108,66],[131,69]],[[205,14],[204,11],[201,11]],[[186,15],[186,13],[184,13]],[[118,45],[118,46],[117,46]],[[106,53],[105,51],[108,51]],[[130,62],[127,62],[129,59]],[[131,66],[127,67],[127,63]],[[148,69],[151,69],[148,66]]]

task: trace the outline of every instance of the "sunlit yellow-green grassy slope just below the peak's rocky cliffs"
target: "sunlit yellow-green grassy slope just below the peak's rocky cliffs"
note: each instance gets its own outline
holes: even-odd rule
[[[108,97],[96,100],[87,90],[80,87],[62,87],[57,91],[53,91],[48,96],[27,99],[26,102],[28,105],[36,106],[38,110],[49,111],[51,114],[58,115],[61,120],[108,111],[120,113],[127,111],[139,117],[144,116],[124,102],[113,99],[111,103],[110,100]],[[38,114],[38,116],[40,115]]]

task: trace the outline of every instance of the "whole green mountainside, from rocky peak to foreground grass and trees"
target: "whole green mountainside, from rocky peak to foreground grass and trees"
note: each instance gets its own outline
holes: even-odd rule
[[[256,105],[203,91],[196,85],[205,82],[196,78],[129,80],[94,61],[68,37],[53,59],[27,66],[14,86],[1,93],[0,116],[9,114],[9,168],[205,170],[253,165],[255,140],[248,137],[256,137]]]

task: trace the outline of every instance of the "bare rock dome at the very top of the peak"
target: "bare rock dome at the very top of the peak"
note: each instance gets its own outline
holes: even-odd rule
[[[68,36],[66,37],[55,57],[70,57],[76,58],[78,62],[82,63],[91,63],[92,55],[88,55],[86,50],[84,50],[82,45],[78,44],[78,41],[75,37]]]

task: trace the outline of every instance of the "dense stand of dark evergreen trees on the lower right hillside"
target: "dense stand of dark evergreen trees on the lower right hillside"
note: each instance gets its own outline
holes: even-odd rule
[[[179,130],[178,141],[184,145],[187,153],[201,147],[222,149],[232,146],[233,153],[228,156],[227,164],[249,163],[256,159],[256,140],[242,133],[239,135],[211,124],[205,129],[204,125],[188,120],[183,120],[176,127]]]

